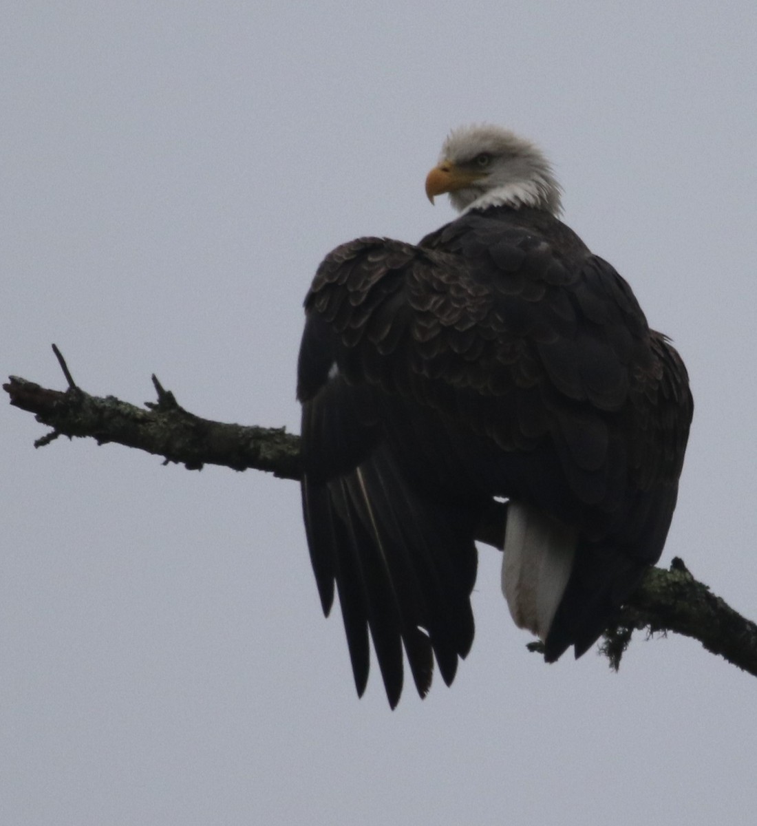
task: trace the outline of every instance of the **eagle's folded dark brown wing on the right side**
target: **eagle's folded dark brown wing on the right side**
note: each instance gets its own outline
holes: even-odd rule
[[[548,662],[570,645],[576,657],[591,648],[665,545],[693,399],[683,361],[665,336],[654,330],[649,358],[634,364],[623,414],[620,432],[626,437],[626,455],[615,471],[626,466],[623,496],[599,520],[598,532],[584,531],[570,582],[546,638]]]

